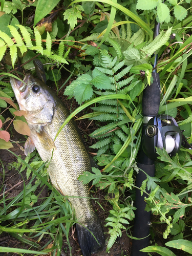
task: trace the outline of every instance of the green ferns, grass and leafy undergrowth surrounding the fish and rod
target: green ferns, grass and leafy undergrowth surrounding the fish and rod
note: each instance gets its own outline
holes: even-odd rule
[[[35,73],[35,58],[44,63],[48,85],[68,105],[69,118],[76,118],[101,166],[102,171],[93,168],[79,180],[94,186],[106,252],[130,255],[135,190],[140,189],[148,196],[146,210],[153,213],[152,246],[144,250],[149,255],[192,254],[191,150],[181,148],[173,158],[158,150],[156,176],[147,177],[141,187],[135,185],[142,93],[152,82],[155,52],[159,114],[173,116],[192,142],[191,1],[0,2],[2,255],[80,255],[70,203],[48,182],[46,164],[38,153],[25,157],[22,151],[29,128],[18,111],[9,77],[23,79],[28,70]],[[160,34],[153,39],[156,20]],[[120,249],[115,252],[117,244]]]

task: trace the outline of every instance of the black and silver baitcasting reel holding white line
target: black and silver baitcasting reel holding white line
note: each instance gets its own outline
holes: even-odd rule
[[[146,124],[142,139],[142,149],[145,155],[155,160],[158,157],[156,148],[165,148],[167,154],[172,157],[181,148],[182,133],[172,116],[157,115]]]

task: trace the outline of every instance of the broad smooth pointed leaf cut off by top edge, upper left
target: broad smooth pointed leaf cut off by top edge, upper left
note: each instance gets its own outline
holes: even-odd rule
[[[35,10],[34,27],[42,18],[49,14],[60,0],[38,0]]]

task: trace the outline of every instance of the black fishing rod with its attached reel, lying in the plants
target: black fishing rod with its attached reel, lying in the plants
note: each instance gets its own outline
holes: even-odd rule
[[[160,24],[155,23],[154,38],[159,35]],[[160,78],[156,71],[158,55],[155,53],[154,70],[152,73],[153,82],[151,86],[143,91],[143,129],[141,146],[138,154],[139,173],[136,178],[136,186],[141,187],[146,175],[155,176],[155,159],[157,158],[156,147],[165,148],[167,154],[174,156],[181,147],[181,144],[190,148],[176,120],[169,115],[158,115],[161,98]],[[145,172],[142,172],[142,170]],[[147,193],[150,191],[146,190]],[[140,250],[149,244],[151,211],[145,211],[145,195],[141,196],[140,190],[136,189],[135,221],[133,237],[132,256],[146,256],[147,252]]]

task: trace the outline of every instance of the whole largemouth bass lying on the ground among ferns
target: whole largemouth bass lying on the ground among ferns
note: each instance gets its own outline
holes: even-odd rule
[[[33,152],[36,147],[41,159],[49,162],[48,174],[53,186],[69,198],[75,211],[77,239],[82,254],[90,256],[105,247],[101,223],[91,203],[89,185],[77,179],[83,172],[91,172],[90,157],[73,119],[55,139],[69,112],[43,80],[31,73],[26,73],[23,82],[10,78],[19,109],[25,111],[31,132],[25,143],[25,154]]]

